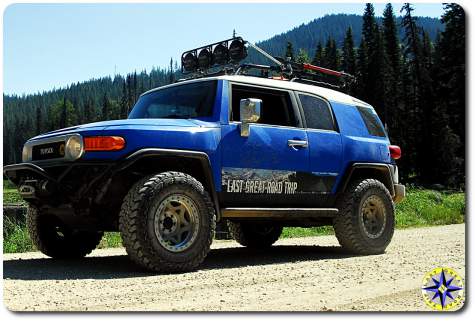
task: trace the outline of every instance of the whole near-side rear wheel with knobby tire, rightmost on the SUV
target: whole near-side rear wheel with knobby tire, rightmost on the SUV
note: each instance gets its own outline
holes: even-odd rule
[[[353,182],[339,198],[335,235],[344,249],[355,254],[381,254],[394,234],[394,203],[378,180]]]

